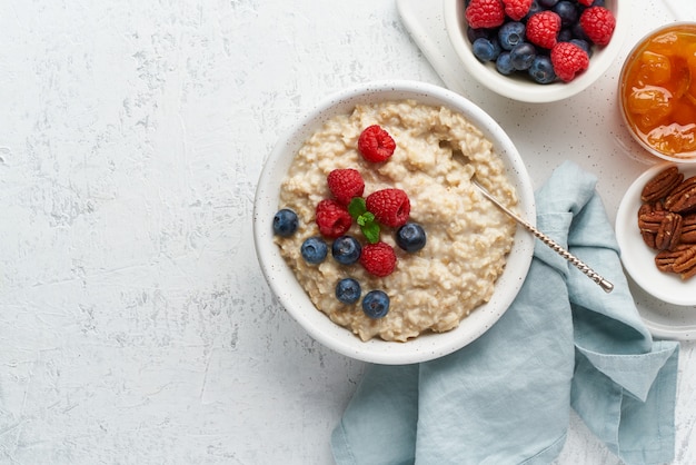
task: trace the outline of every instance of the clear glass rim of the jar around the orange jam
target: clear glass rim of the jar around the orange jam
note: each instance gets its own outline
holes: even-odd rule
[[[624,60],[624,63],[622,65],[622,70],[618,75],[618,92],[616,98],[618,100],[618,107],[619,107],[619,113],[622,115],[622,120],[624,121],[624,126],[626,127],[626,130],[628,131],[628,133],[630,133],[630,136],[633,137],[633,139],[638,142],[638,145],[645,149],[645,151],[647,151],[649,155],[654,156],[654,157],[658,157],[662,160],[667,160],[667,161],[672,161],[674,164],[683,164],[683,165],[692,165],[692,164],[696,164],[696,150],[690,151],[689,154],[693,154],[689,157],[675,157],[672,156],[669,154],[664,154],[662,151],[659,151],[658,149],[656,149],[655,147],[649,146],[645,140],[643,140],[643,138],[640,136],[638,136],[638,133],[634,130],[633,125],[630,125],[630,122],[628,121],[628,115],[627,115],[627,110],[626,110],[626,106],[624,105],[624,89],[626,87],[626,82],[624,81],[624,76],[626,72],[628,72],[628,68],[630,65],[630,61],[636,58],[636,53],[638,52],[638,50],[640,50],[640,48],[643,48],[645,46],[645,43],[654,36],[667,32],[672,29],[679,29],[683,28],[685,26],[689,26],[693,27],[695,29],[696,32],[696,21],[676,21],[676,22],[670,22],[667,24],[663,24],[659,26],[653,30],[650,30],[649,32],[647,32],[646,34],[644,34],[643,37],[640,37],[638,40],[636,40],[636,42],[634,43],[634,46],[630,48],[630,51],[626,55],[626,59]]]

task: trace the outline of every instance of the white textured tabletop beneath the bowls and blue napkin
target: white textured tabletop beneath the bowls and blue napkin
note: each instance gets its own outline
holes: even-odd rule
[[[271,297],[252,196],[284,127],[382,78],[440,82],[392,1],[0,2],[0,463],[331,463],[362,365]],[[575,419],[559,463],[617,459]]]

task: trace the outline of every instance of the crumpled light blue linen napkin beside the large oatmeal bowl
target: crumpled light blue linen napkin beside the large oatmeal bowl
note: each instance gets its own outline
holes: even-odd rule
[[[548,464],[573,407],[627,464],[674,458],[678,344],[654,342],[622,271],[596,178],[571,162],[536,192],[537,226],[615,285],[539,241],[511,307],[437,360],[369,365],[331,436],[346,464]]]

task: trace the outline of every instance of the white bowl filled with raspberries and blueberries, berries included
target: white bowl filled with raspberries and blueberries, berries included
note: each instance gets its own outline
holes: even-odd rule
[[[616,60],[629,27],[618,0],[443,0],[466,70],[514,100],[573,97]]]

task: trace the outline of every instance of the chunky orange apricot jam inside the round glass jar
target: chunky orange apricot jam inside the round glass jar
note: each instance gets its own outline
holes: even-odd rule
[[[696,159],[696,23],[643,39],[626,59],[619,92],[624,119],[643,146]]]

